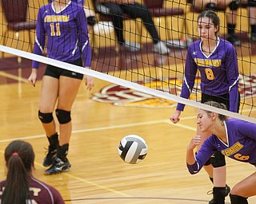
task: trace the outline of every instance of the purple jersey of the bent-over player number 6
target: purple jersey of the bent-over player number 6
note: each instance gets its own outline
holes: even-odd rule
[[[216,135],[207,138],[195,155],[196,162],[188,165],[190,174],[196,174],[215,151],[221,151],[231,159],[250,163],[256,167],[256,124],[243,120],[229,119],[224,122],[227,144]]]

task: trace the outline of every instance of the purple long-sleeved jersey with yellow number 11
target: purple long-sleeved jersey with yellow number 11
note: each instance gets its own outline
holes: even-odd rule
[[[42,6],[38,11],[35,54],[42,55],[46,36],[48,57],[73,62],[82,56],[85,66],[90,67],[90,42],[86,14],[82,6],[69,2],[59,12],[55,12],[52,3]],[[38,69],[38,65],[38,61],[33,61],[32,68]]]

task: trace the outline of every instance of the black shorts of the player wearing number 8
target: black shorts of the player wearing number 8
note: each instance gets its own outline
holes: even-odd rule
[[[230,94],[223,94],[221,96],[210,96],[208,94],[202,93],[202,99],[201,99],[202,104],[210,100],[218,102],[219,104],[225,104],[226,109],[230,110]],[[238,112],[239,112],[239,108],[240,108],[240,93],[238,95]]]

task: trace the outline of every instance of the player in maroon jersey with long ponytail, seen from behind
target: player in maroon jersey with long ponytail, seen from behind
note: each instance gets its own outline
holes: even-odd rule
[[[7,178],[0,182],[0,203],[64,204],[58,190],[33,177],[34,150],[30,143],[11,142],[6,147],[5,160]]]

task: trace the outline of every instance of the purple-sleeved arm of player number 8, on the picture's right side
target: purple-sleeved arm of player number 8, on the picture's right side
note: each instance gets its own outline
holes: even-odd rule
[[[230,112],[238,112],[238,57],[234,46],[226,54],[226,72],[230,91]]]

